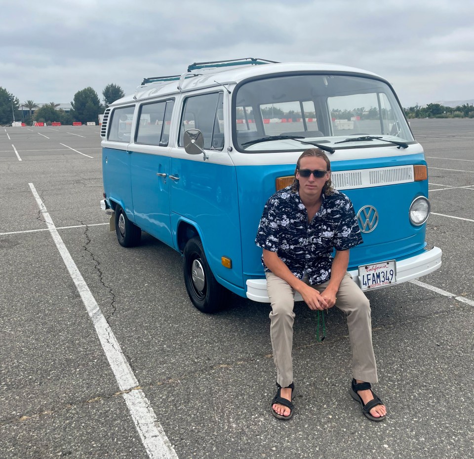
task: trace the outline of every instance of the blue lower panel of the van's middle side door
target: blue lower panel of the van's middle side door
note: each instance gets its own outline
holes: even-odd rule
[[[131,153],[135,223],[168,246],[173,245],[169,215],[169,156]],[[166,177],[157,176],[166,174]]]

